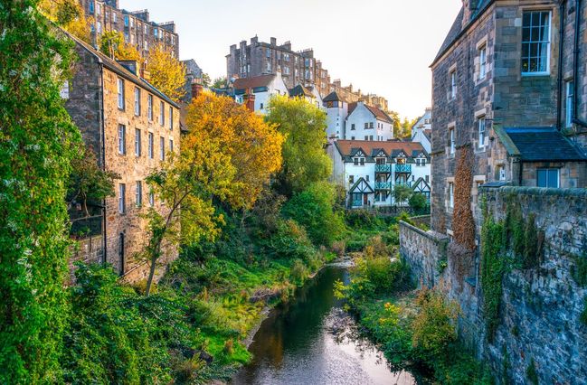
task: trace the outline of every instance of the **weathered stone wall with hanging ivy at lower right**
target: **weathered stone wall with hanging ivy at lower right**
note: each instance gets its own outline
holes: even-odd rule
[[[587,190],[481,188],[480,199],[487,202],[488,213],[496,221],[505,219],[508,205],[519,204],[525,218],[535,214],[537,228],[545,236],[539,268],[511,268],[504,277],[499,326],[492,343],[485,332],[478,256],[474,274],[460,281],[447,252],[452,245],[440,248],[437,234],[401,222],[402,257],[416,280],[459,303],[461,339],[489,363],[500,383],[530,383],[526,371],[531,362],[540,383],[584,383],[587,325],[581,323],[580,315],[587,288],[575,282],[572,271],[576,258],[587,258]],[[440,274],[435,268],[443,258],[449,263]]]

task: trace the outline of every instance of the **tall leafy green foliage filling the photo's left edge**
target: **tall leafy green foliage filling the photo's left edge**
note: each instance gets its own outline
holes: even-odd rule
[[[0,383],[62,382],[70,255],[63,198],[80,133],[60,97],[71,43],[37,6],[0,6]]]

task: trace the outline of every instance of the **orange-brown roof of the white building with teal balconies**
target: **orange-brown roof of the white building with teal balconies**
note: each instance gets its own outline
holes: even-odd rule
[[[390,161],[402,152],[407,156],[408,163],[414,163],[413,158],[421,153],[430,160],[430,155],[418,142],[379,142],[374,140],[337,140],[335,142],[338,153],[346,162],[352,162],[352,157],[359,151],[365,153],[365,162],[374,163],[375,157],[383,151]]]

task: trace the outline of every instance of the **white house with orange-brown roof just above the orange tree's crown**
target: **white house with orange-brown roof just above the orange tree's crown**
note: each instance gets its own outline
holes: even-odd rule
[[[267,113],[267,106],[272,96],[289,96],[289,89],[281,78],[280,72],[254,78],[237,79],[232,83],[232,88],[234,89],[234,99],[241,104],[250,89],[252,95],[255,96],[254,111],[263,115]]]

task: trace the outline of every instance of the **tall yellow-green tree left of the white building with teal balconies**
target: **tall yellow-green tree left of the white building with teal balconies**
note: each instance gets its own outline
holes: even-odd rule
[[[311,183],[326,181],[332,173],[332,163],[325,151],[326,118],[322,110],[306,99],[279,96],[270,100],[266,120],[286,136],[283,169],[275,185],[282,194],[302,192]]]

